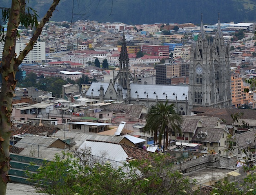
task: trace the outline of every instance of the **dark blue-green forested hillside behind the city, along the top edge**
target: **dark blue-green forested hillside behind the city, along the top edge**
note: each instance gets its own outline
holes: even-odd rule
[[[8,6],[10,0],[2,0]],[[42,17],[52,0],[29,0]],[[72,9],[72,3],[74,3]],[[97,20],[126,24],[255,22],[256,0],[61,0],[51,20]]]

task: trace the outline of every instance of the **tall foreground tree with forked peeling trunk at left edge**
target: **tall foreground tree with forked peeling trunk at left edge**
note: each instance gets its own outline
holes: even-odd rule
[[[53,11],[60,0],[53,0],[49,10],[42,17],[41,22],[38,24],[37,15],[32,9],[27,9],[26,0],[12,0],[11,8],[4,8],[3,20],[9,20],[7,32],[3,36],[2,26],[0,26],[2,41],[4,41],[4,49],[1,62],[1,75],[2,75],[2,88],[0,93],[0,194],[6,193],[6,186],[9,180],[9,139],[11,136],[11,113],[12,113],[12,98],[14,89],[17,84],[16,72],[22,60],[32,50],[33,45],[36,43],[42,28],[51,17]],[[31,13],[32,10],[32,13]],[[26,12],[27,11],[27,12]],[[18,36],[18,27],[22,24],[24,27],[35,26],[34,31],[29,43],[20,54],[15,53],[16,40]]]

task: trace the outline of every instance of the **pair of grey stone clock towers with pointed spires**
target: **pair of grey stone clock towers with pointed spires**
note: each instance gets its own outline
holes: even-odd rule
[[[207,40],[203,20],[189,65],[189,110],[199,106],[227,108],[231,102],[229,43],[225,44],[220,18],[213,41]]]

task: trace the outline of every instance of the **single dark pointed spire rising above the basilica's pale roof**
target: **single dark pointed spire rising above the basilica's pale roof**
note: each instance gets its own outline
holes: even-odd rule
[[[118,82],[118,85],[122,86],[123,89],[129,89],[130,80],[134,82],[134,78],[129,72],[129,57],[126,48],[125,34],[122,35],[122,47],[119,57],[119,72],[114,83]],[[128,97],[129,98],[129,97]]]

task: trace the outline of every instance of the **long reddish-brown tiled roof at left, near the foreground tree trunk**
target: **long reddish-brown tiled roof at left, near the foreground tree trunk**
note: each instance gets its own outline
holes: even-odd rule
[[[22,128],[16,129],[15,131],[11,132],[11,136],[21,133],[42,134],[43,132],[48,132],[48,134],[51,135],[53,133],[56,133],[58,130],[60,129],[57,127],[23,125]]]

